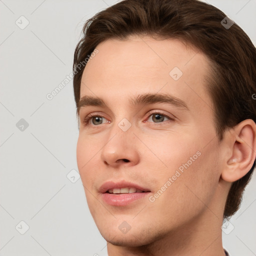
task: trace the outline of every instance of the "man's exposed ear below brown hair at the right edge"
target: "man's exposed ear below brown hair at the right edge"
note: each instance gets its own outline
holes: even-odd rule
[[[252,167],[256,156],[256,124],[251,119],[238,123],[231,130],[231,156],[226,157],[221,178],[233,182]]]

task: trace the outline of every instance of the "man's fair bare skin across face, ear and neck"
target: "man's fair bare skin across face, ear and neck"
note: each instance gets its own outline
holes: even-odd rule
[[[108,255],[224,255],[224,204],[231,182],[245,175],[255,159],[255,123],[244,120],[218,140],[206,91],[209,62],[194,47],[130,36],[96,48],[84,68],[80,96],[100,97],[108,107],[81,107],[76,153],[88,207],[108,242]],[[169,75],[175,66],[183,73],[176,81]],[[129,104],[130,97],[148,92],[171,94],[189,110],[166,103]],[[174,120],[165,117],[159,123],[150,110]],[[93,118],[84,125],[90,113],[102,122]],[[118,126],[123,118],[131,124],[127,131]],[[101,198],[98,189],[106,180],[138,183],[152,196],[198,151],[200,156],[154,202],[145,197],[111,206]],[[118,228],[123,221],[131,226],[125,234]]]

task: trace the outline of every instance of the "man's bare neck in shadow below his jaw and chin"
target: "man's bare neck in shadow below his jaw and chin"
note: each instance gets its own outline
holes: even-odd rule
[[[221,217],[219,217],[221,216]],[[190,219],[175,230],[159,234],[152,242],[140,246],[107,244],[108,256],[224,256],[222,247],[222,215],[215,215],[209,207],[200,216]],[[136,234],[125,234],[137,239]]]

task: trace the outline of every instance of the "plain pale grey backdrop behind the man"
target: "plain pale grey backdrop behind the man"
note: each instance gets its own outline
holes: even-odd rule
[[[115,2],[0,0],[2,256],[107,255],[78,174],[78,127],[67,77],[84,21]],[[255,45],[256,0],[207,2]],[[60,83],[63,88],[48,99]],[[255,186],[254,173],[240,209],[223,227],[231,256],[256,255]]]

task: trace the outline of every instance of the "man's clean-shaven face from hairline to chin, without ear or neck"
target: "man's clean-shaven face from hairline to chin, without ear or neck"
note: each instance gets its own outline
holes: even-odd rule
[[[174,39],[131,36],[96,49],[81,79],[79,173],[101,235],[116,245],[147,244],[215,203],[220,144],[209,64]]]

